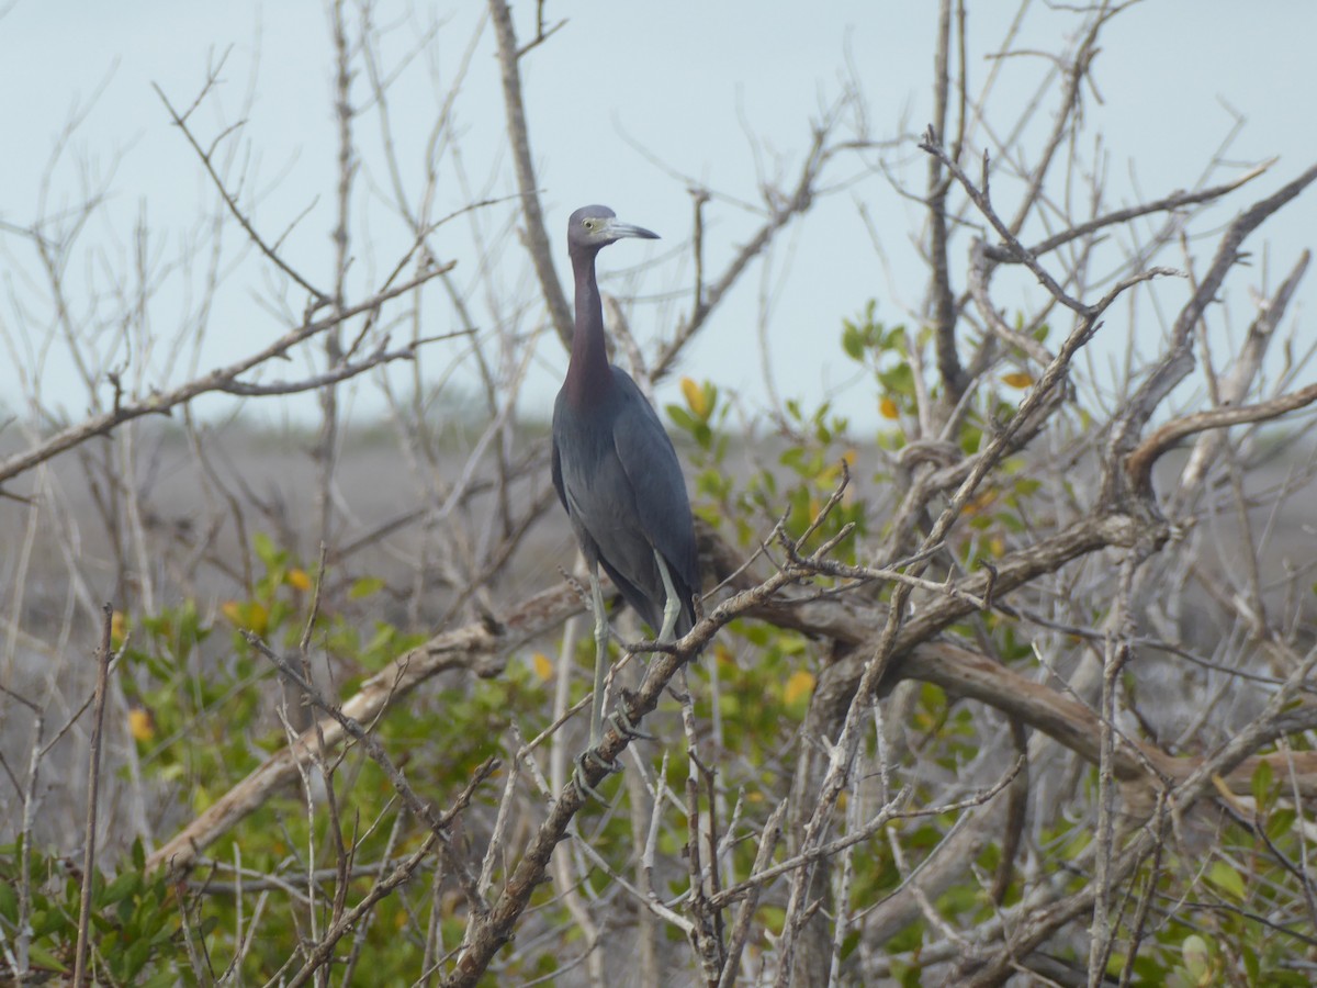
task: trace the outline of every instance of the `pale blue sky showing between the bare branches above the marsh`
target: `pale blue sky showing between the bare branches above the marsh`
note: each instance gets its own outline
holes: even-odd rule
[[[1015,5],[969,7],[975,79],[986,74],[982,55],[994,49]],[[408,14],[408,9],[414,13]],[[519,11],[523,37],[529,32],[527,17],[532,9],[523,4]],[[441,83],[452,79],[483,11],[479,3],[381,4],[381,22],[440,22],[425,55],[399,83],[392,105],[404,162],[414,159],[436,115],[439,96],[425,74],[435,71]],[[873,137],[896,137],[902,125],[922,129],[930,115],[932,3],[838,3],[806,14],[806,5],[798,0],[551,0],[547,11],[551,21],[566,17],[569,24],[524,61],[523,71],[543,203],[554,238],[561,240],[568,213],[590,202],[607,203],[624,219],[665,237],[658,245],[610,249],[602,262],[606,270],[669,257],[665,252],[673,250],[690,229],[690,199],[684,184],[640,154],[628,137],[661,155],[672,169],[720,192],[749,198],[755,158],[747,128],[761,142],[760,163],[768,171],[776,167],[774,155],[782,155],[788,174],[794,174],[807,141],[809,119],[820,100],[835,96],[846,51],[868,100]],[[1022,45],[1056,50],[1058,38],[1075,24],[1072,14],[1035,3]],[[412,32],[403,26],[392,37],[400,50]],[[1247,117],[1231,149],[1233,161],[1281,157],[1270,175],[1231,200],[1221,212],[1222,221],[1317,159],[1317,130],[1309,125],[1317,96],[1317,76],[1310,70],[1317,4],[1147,0],[1118,17],[1104,37],[1096,74],[1102,103],[1089,99],[1088,113],[1093,132],[1105,136],[1110,206],[1133,202],[1131,175],[1148,198],[1196,180],[1231,126],[1222,100]],[[83,234],[82,244],[112,258],[112,267],[113,258],[129,250],[133,223],[145,215],[161,236],[161,261],[176,254],[179,245],[195,236],[198,204],[212,196],[195,155],[169,126],[151,83],[176,104],[186,104],[204,78],[208,58],[230,46],[216,104],[223,113],[207,107],[199,124],[213,134],[221,120],[232,123],[248,88],[253,88],[254,104],[242,138],[250,142],[250,173],[267,190],[257,223],[274,236],[319,196],[319,206],[288,238],[287,249],[316,281],[328,283],[336,180],[333,69],[328,14],[319,0],[17,0],[0,18],[0,83],[7,94],[0,220],[22,227],[34,219],[57,136],[72,108],[86,105],[108,79],[75,136],[71,154],[51,177],[47,208],[57,212],[59,204],[75,204],[86,169],[104,171],[121,154],[109,183],[111,208]],[[1038,59],[1008,65],[993,111],[998,125],[1008,123],[1013,101],[1027,97],[1040,66]],[[504,116],[487,28],[456,112],[470,186],[482,195],[510,194],[515,186],[503,151]],[[373,142],[374,123],[362,126]],[[923,174],[919,151],[911,146],[897,157],[905,162],[905,178],[918,187]],[[367,158],[366,169],[382,175],[377,161]],[[853,169],[842,166],[834,174],[843,178]],[[440,215],[460,206],[466,195],[454,171],[445,171],[445,177],[443,206],[436,209]],[[415,187],[416,182],[411,182]],[[358,184],[358,190],[363,188]],[[1308,195],[1263,229],[1272,242],[1276,269],[1288,267],[1301,248],[1317,240],[1317,199],[1313,192]],[[872,209],[880,225],[888,270],[856,215],[856,200]],[[491,212],[486,229],[498,229],[507,212],[508,207]],[[709,216],[707,263],[716,271],[753,228],[755,217],[722,204],[714,204]],[[869,298],[880,300],[878,315],[889,321],[903,317],[902,303],[918,304],[923,274],[909,241],[918,219],[911,204],[873,177],[823,202],[784,238],[772,257],[769,275],[778,291],[769,324],[772,366],[784,395],[807,400],[834,395],[856,416],[872,416],[872,387],[852,381],[852,366],[836,346],[840,319],[861,310]],[[391,262],[400,231],[381,206],[365,199],[360,200],[354,221],[357,233],[374,246],[374,256],[363,256],[356,269],[361,278],[357,285],[365,287],[378,277],[379,266]],[[237,246],[232,233],[228,242]],[[461,262],[461,278],[468,283],[475,278],[479,262],[466,227],[453,227],[436,242],[446,250],[443,260]],[[1205,261],[1206,250],[1206,245],[1200,248],[1200,261]],[[96,252],[84,250],[71,271],[75,300],[84,298],[79,292],[113,290],[105,283],[107,266],[95,260]],[[557,260],[565,277],[564,252]],[[515,241],[504,246],[498,262],[493,290],[524,294],[529,275]],[[24,279],[40,269],[30,245],[12,233],[0,233],[0,263],[7,267],[8,281],[0,296],[0,328],[24,336],[25,327],[40,325],[43,317],[40,311],[22,312],[32,298]],[[760,271],[755,271],[741,283],[680,368],[681,373],[736,389],[751,407],[766,400],[756,332],[763,282]],[[277,321],[253,302],[253,292],[265,291],[266,285],[254,273],[240,270],[233,275],[212,317],[202,370],[279,331]],[[1234,281],[1233,291],[1242,292],[1245,285]],[[687,286],[686,269],[669,261],[647,275],[643,291],[658,295]],[[439,298],[436,294],[436,303]],[[1168,290],[1166,298],[1173,306],[1183,298],[1183,288]],[[1313,286],[1306,286],[1293,312],[1303,319],[1304,306],[1314,298]],[[290,300],[300,307],[299,298]],[[474,302],[475,319],[487,327],[490,310],[479,294]],[[682,308],[689,304],[685,299],[678,303]],[[175,288],[162,294],[151,317],[153,332],[167,340],[173,314],[188,304]],[[1245,312],[1242,306],[1239,311]],[[431,312],[435,333],[453,328],[441,306],[433,304]],[[522,328],[529,328],[536,315],[529,314]],[[643,306],[633,314],[633,329],[641,340],[649,340],[670,329],[676,316],[670,304]],[[25,353],[36,353],[40,344],[28,328]],[[169,360],[163,349],[136,358],[144,357],[148,365],[142,381],[163,386],[183,379],[186,368]],[[428,360],[436,371],[444,364],[440,353]],[[14,406],[17,378],[8,364],[5,350],[0,353],[0,400]],[[58,346],[41,366],[46,402],[62,404],[70,415],[80,414],[86,398],[80,387],[70,386],[70,364]],[[556,340],[541,337],[523,400],[528,411],[543,404],[548,412],[564,366],[565,354]],[[851,386],[842,387],[847,382]],[[217,410],[232,402],[211,399],[208,407]],[[370,385],[360,386],[358,407],[365,412],[379,407]]]

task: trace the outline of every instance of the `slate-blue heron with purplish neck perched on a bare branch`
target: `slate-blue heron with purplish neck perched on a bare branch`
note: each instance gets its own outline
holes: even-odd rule
[[[602,248],[623,237],[657,240],[658,234],[619,223],[605,206],[586,206],[568,220],[576,332],[568,375],[553,404],[553,486],[590,568],[595,642],[591,748],[602,736],[608,668],[608,618],[599,566],[657,631],[660,642],[690,631],[699,589],[695,531],[677,452],[636,382],[608,364],[605,350],[594,260]]]

